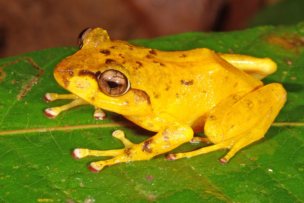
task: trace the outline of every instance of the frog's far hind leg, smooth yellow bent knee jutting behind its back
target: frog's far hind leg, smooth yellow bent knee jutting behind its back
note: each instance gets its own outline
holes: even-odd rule
[[[218,54],[238,69],[261,80],[277,70],[277,64],[269,58],[256,58],[240,54]]]

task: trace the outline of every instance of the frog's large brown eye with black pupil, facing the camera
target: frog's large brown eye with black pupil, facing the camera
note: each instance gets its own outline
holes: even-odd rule
[[[104,94],[118,97],[130,89],[130,82],[122,72],[109,69],[99,75],[98,86]]]

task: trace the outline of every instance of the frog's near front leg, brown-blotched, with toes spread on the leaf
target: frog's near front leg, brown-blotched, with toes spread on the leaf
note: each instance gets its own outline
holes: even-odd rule
[[[76,159],[88,155],[115,157],[109,160],[92,162],[88,166],[89,170],[99,172],[107,165],[110,166],[116,163],[137,160],[149,160],[158,154],[166,153],[182,143],[190,141],[193,137],[193,130],[187,124],[174,123],[173,125],[173,123],[171,123],[171,125],[161,129],[155,136],[140,144],[131,143],[124,137],[123,132],[120,130],[115,131],[113,136],[123,141],[125,145],[124,149],[106,151],[75,149],[72,152],[72,157]]]

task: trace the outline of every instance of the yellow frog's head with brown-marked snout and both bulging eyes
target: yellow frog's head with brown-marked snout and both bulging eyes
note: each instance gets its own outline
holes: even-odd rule
[[[149,96],[132,86],[128,69],[106,59],[106,50],[113,46],[113,41],[105,30],[84,30],[78,37],[78,46],[77,53],[54,69],[60,86],[93,105],[122,115],[143,115],[150,111]]]

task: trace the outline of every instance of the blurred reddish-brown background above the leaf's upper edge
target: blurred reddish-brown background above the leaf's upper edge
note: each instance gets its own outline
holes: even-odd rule
[[[78,34],[88,27],[102,27],[108,31],[111,39],[119,40],[190,31],[244,29],[261,9],[281,2],[282,0],[1,1],[0,58],[58,46],[76,46]],[[271,24],[270,20],[269,23]]]

